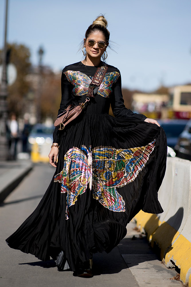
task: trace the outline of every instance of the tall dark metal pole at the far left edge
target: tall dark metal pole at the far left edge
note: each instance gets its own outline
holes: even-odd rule
[[[7,12],[8,12],[8,0],[6,0],[5,8],[5,30],[4,30],[4,48],[3,48],[3,74],[0,91],[0,160],[8,159],[8,139],[7,139]]]

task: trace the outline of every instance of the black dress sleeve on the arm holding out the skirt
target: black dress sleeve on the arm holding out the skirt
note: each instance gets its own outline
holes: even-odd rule
[[[113,85],[113,92],[111,95],[111,108],[115,117],[132,117],[140,121],[144,121],[147,118],[145,115],[133,113],[132,110],[125,108],[121,91],[121,75]]]

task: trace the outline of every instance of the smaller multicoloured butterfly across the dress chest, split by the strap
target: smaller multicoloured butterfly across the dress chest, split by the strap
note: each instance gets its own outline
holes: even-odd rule
[[[72,83],[74,86],[72,94],[75,96],[87,94],[92,77],[88,77],[86,74],[79,71],[70,70],[64,72],[64,74],[66,75],[68,82]],[[119,75],[120,73],[118,72],[106,73],[97,94],[108,98],[112,92],[112,85],[117,81]]]

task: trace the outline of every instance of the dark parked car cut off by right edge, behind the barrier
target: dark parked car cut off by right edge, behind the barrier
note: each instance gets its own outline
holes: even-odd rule
[[[191,119],[180,134],[175,150],[178,157],[191,160]]]

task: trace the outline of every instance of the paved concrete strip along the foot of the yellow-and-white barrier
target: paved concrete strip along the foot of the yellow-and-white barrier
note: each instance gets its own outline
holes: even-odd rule
[[[149,247],[146,235],[137,230],[135,220],[127,225],[127,235],[118,249],[139,287],[184,286],[177,280],[179,274],[175,269],[168,269]]]

